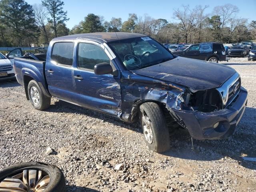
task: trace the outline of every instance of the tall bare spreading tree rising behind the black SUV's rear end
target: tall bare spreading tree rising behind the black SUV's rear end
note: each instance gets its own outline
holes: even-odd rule
[[[218,41],[220,41],[222,37],[224,26],[226,26],[229,20],[234,18],[238,12],[238,7],[232,4],[225,4],[223,6],[214,7],[214,14],[220,16],[220,22],[222,22],[218,32]]]

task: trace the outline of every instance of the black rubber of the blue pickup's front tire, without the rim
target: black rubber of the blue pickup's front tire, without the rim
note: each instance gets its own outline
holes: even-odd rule
[[[143,115],[146,115],[149,118],[153,136],[152,143],[149,143],[144,135],[142,120]],[[166,126],[164,114],[158,104],[154,102],[146,102],[140,105],[140,123],[143,130],[144,141],[150,150],[160,153],[170,149],[169,131]]]

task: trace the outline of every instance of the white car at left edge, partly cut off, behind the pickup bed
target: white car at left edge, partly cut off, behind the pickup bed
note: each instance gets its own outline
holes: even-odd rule
[[[14,59],[14,56],[8,58]],[[0,80],[16,80],[13,62],[0,53]]]

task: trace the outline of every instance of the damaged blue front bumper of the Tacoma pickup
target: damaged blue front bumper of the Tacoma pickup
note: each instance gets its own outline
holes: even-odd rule
[[[234,133],[247,104],[247,91],[241,87],[238,96],[225,109],[216,112],[199,112],[172,109],[188,130],[198,140],[224,139]],[[216,128],[214,124],[219,122]]]

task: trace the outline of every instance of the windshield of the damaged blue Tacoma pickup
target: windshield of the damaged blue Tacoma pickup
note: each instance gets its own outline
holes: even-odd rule
[[[146,68],[173,59],[173,55],[150,37],[110,42],[109,46],[128,70]]]

